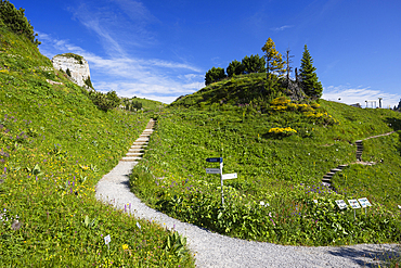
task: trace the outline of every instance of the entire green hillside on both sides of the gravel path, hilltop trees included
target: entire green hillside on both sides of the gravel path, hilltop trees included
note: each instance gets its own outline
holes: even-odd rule
[[[401,113],[321,99],[307,44],[294,69],[269,38],[167,105],[79,87],[39,52],[23,9],[0,11],[1,267],[195,267],[182,233],[95,197],[151,118],[129,176],[147,206],[249,241],[400,244]]]

